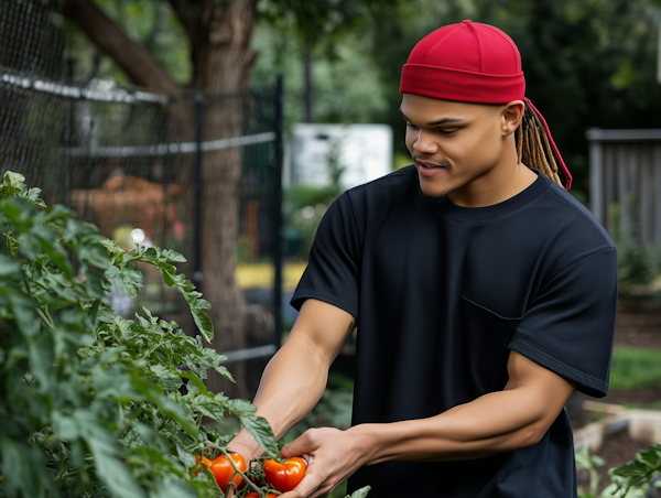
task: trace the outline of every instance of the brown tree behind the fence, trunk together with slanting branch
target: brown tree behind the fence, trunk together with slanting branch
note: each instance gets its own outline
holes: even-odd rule
[[[129,39],[89,0],[62,0],[65,15],[112,57],[131,79],[152,91],[178,93],[158,62],[138,42]],[[170,0],[192,43],[192,87],[205,94],[203,140],[240,137],[243,98],[223,97],[243,89],[257,54],[251,48],[257,0]],[[192,106],[175,104],[173,129],[193,130]],[[178,108],[176,107],[178,106]],[[176,138],[176,131],[175,137]],[[246,304],[235,280],[236,242],[239,223],[241,149],[206,152],[203,158],[202,292],[213,308],[213,347],[218,351],[247,346]],[[191,170],[193,162],[191,162]],[[193,178],[192,172],[183,177]],[[250,396],[242,364],[231,365],[236,387],[216,372],[209,372],[207,387],[231,397]]]

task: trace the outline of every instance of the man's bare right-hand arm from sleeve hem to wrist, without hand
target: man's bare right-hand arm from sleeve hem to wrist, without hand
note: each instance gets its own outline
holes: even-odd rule
[[[438,415],[349,429],[368,448],[364,465],[386,461],[474,459],[533,445],[549,430],[574,386],[530,359],[512,353],[510,381]]]

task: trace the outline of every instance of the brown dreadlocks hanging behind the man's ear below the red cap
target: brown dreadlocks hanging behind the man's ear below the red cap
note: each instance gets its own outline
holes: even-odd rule
[[[528,105],[525,105],[521,124],[517,129],[517,156],[519,163],[522,162],[529,167],[539,170],[544,176],[563,186],[546,130],[538,115]]]

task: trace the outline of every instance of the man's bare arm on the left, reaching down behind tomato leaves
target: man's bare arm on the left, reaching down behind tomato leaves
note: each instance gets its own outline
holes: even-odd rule
[[[344,310],[317,300],[306,300],[286,342],[271,358],[262,375],[253,404],[281,437],[317,403],[326,388],[328,369],[356,320]],[[246,461],[263,453],[245,430],[229,447]]]

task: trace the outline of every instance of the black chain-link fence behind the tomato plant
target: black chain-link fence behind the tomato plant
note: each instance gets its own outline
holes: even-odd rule
[[[235,95],[156,95],[105,79],[77,86],[59,23],[41,0],[0,3],[2,171],[24,174],[47,203],[123,247],[182,252],[180,270],[212,304],[227,293],[231,267],[247,317],[234,339],[215,345],[231,349],[230,360],[269,356],[282,331],[281,80]],[[144,305],[193,328],[159,274],[145,274],[136,300],[111,300],[122,314]],[[223,310],[212,313],[223,321]],[[254,372],[250,390],[261,366],[245,368]]]

